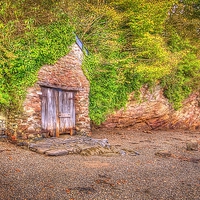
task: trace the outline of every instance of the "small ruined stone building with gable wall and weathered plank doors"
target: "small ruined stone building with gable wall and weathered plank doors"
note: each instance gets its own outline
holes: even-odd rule
[[[38,81],[27,90],[23,113],[8,119],[8,135],[26,139],[90,132],[89,81],[82,59],[82,50],[74,44],[55,65],[41,67]]]

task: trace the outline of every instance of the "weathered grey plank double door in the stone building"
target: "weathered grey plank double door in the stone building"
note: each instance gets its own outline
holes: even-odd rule
[[[75,127],[74,93],[42,87],[42,129],[51,136],[72,133]]]

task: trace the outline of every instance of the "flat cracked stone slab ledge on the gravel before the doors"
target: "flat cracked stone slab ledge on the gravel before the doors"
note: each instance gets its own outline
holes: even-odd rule
[[[79,154],[83,156],[139,155],[132,150],[111,146],[107,139],[95,139],[88,136],[70,136],[68,138],[43,138],[30,142],[28,149],[46,156],[64,156]]]

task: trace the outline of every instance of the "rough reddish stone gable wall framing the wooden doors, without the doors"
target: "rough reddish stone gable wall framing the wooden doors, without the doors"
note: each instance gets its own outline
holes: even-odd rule
[[[45,65],[40,69],[38,82],[27,90],[23,112],[9,117],[8,135],[14,139],[41,136],[41,86],[74,91],[76,132],[90,132],[89,81],[81,69],[82,59],[82,51],[74,44],[69,54],[55,65]]]

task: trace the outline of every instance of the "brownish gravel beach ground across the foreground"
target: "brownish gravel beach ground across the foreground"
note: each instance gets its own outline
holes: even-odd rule
[[[92,137],[137,154],[49,157],[0,141],[0,199],[200,200],[200,150],[186,150],[199,132],[96,130]]]

